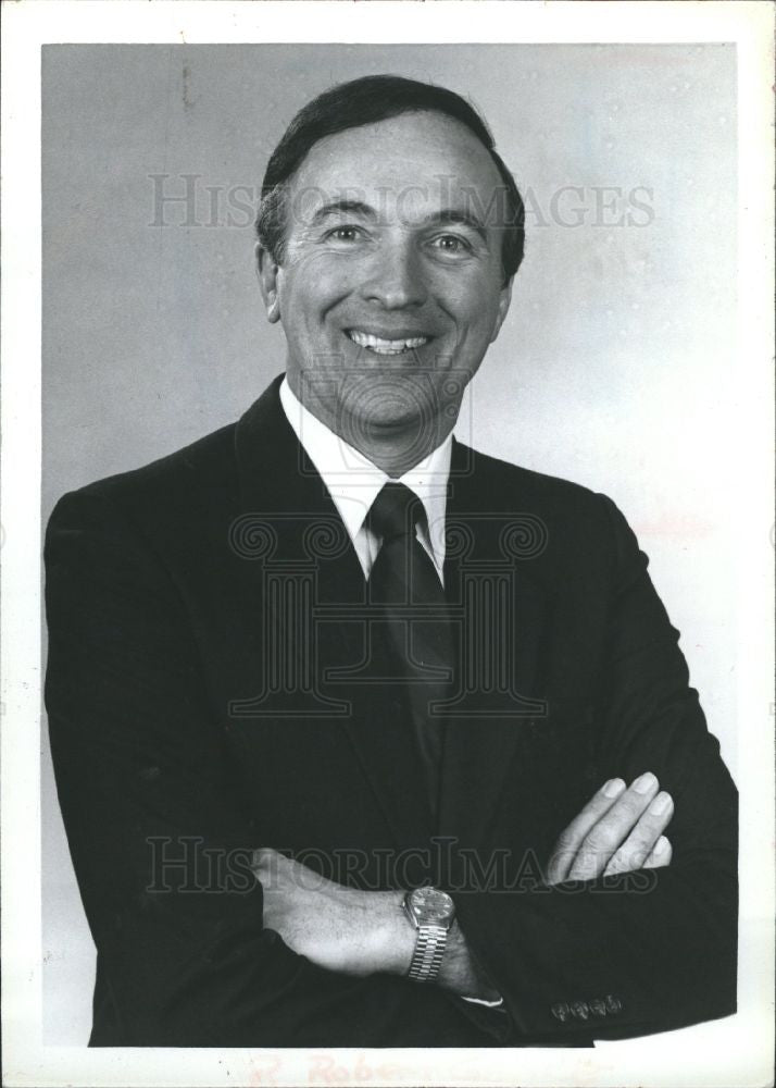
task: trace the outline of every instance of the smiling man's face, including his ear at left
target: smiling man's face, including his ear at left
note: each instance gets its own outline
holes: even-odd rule
[[[424,432],[451,430],[509,307],[500,209],[487,150],[442,114],[348,129],[302,162],[262,288],[291,387],[353,445],[403,435],[423,452]]]

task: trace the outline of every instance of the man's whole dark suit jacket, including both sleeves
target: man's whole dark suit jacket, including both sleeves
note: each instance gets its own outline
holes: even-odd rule
[[[467,664],[434,819],[396,691],[341,675],[364,580],[278,385],[49,524],[91,1044],[585,1046],[734,1012],[736,790],[616,507],[455,445],[445,580]],[[594,790],[648,769],[676,805],[671,866],[547,888]],[[451,889],[506,1015],[293,953],[262,927],[258,845],[362,888]]]

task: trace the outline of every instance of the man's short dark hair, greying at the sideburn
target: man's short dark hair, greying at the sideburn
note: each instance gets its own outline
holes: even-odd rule
[[[490,129],[474,107],[454,91],[398,75],[367,75],[340,83],[308,102],[291,121],[267,164],[256,218],[259,240],[273,260],[280,263],[284,256],[287,183],[310,149],[325,136],[414,112],[442,113],[461,122],[490,154],[504,183],[504,282],[515,274],[525,246],[525,207]]]

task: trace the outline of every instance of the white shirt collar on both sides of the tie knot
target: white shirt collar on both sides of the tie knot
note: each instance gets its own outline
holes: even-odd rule
[[[391,478],[313,416],[296,396],[287,378],[280,385],[280,404],[354,541],[378,492]],[[452,434],[448,434],[441,445],[399,478],[399,483],[423,503],[429,544],[440,569],[445,562],[445,511],[451,454]]]

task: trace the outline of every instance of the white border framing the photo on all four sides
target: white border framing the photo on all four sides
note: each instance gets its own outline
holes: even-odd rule
[[[413,0],[21,0],[2,47],[3,1083],[600,1085],[773,1083],[773,7]],[[304,27],[300,36],[299,27]],[[739,399],[726,441],[746,472],[738,531],[741,791],[739,1012],[590,1050],[217,1050],[43,1047],[40,890],[40,50],[55,42],[734,42],[738,51]],[[4,527],[4,528],[3,528]],[[743,652],[746,647],[746,652]]]

